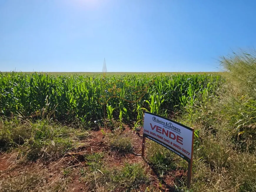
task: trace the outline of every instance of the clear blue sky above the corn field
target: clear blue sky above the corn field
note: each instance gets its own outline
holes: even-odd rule
[[[0,71],[218,71],[255,0],[0,0]]]

